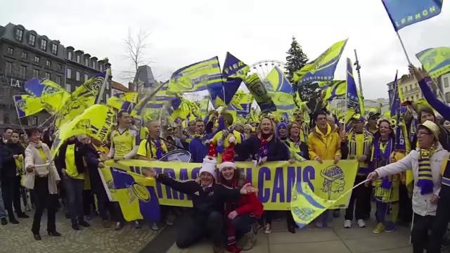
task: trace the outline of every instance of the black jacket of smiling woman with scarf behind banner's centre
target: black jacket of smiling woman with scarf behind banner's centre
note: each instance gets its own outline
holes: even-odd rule
[[[240,157],[251,156],[253,160],[258,160],[259,146],[261,141],[257,136],[251,136],[248,140],[236,144],[234,150]],[[279,138],[272,138],[268,143],[267,162],[289,160],[288,147]]]

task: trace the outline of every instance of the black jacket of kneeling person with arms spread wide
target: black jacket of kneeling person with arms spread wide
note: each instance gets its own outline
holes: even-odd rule
[[[235,202],[240,199],[240,189],[227,188],[217,183],[212,183],[212,187],[204,190],[194,180],[176,181],[165,174],[158,174],[156,181],[186,193],[192,198],[195,221],[203,221],[213,211],[223,214],[225,202]]]

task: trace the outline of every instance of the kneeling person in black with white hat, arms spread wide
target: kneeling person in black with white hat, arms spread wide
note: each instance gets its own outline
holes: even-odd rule
[[[214,252],[224,252],[224,202],[238,201],[241,194],[247,195],[257,191],[250,183],[238,189],[217,183],[216,162],[209,157],[203,160],[199,171],[200,179],[197,180],[176,181],[165,174],[157,174],[154,169],[145,169],[143,174],[154,177],[156,181],[192,198],[193,213],[176,238],[176,245],[181,249],[190,247],[209,235],[214,244]]]

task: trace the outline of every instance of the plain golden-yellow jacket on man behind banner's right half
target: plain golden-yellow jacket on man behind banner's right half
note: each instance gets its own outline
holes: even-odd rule
[[[331,126],[327,126],[326,134],[322,134],[316,126],[308,136],[309,159],[314,160],[321,157],[322,160],[333,160],[340,153],[340,137],[337,131],[332,131]]]

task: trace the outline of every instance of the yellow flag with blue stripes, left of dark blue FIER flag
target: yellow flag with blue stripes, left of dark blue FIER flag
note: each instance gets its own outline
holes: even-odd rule
[[[170,77],[169,91],[183,93],[203,91],[207,86],[224,82],[217,56],[176,70]]]

